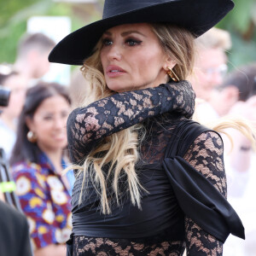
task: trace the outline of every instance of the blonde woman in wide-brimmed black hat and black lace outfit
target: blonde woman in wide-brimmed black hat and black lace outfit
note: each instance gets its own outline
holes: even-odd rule
[[[194,38],[230,0],[105,1],[49,61],[83,65],[84,106],[70,114],[75,164],[68,255],[222,255],[244,238],[225,200],[223,144],[191,121]]]

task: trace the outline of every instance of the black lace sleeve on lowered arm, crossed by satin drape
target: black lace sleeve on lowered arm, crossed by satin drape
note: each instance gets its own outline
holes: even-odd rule
[[[223,143],[217,133],[213,131],[202,133],[190,146],[184,159],[226,197]],[[222,255],[222,242],[202,230],[190,218],[185,218],[185,229],[188,256]]]

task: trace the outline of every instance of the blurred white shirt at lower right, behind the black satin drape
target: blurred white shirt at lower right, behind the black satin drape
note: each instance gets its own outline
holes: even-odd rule
[[[230,195],[228,201],[241,218],[245,228],[246,240],[229,236],[224,243],[224,256],[256,255],[256,154],[253,154],[251,166],[247,173],[237,173],[226,165]],[[231,177],[229,179],[229,177]],[[243,186],[241,186],[243,185]],[[234,190],[235,187],[237,191]],[[236,193],[234,193],[236,191]],[[229,189],[228,189],[229,192]]]

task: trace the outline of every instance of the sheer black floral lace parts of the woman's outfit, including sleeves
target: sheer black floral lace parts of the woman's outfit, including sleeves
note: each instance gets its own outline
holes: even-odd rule
[[[143,123],[146,136],[140,155],[143,163],[159,164],[166,152],[172,131],[194,111],[194,92],[186,81],[160,87],[117,94],[75,110],[68,119],[68,143],[74,162],[84,158],[92,148],[113,132]],[[202,133],[184,155],[191,166],[226,196],[223,145],[218,134]],[[75,183],[73,195],[78,195]],[[207,234],[190,218],[185,218],[183,241],[165,236],[142,239],[110,239],[75,236],[73,255],[222,255],[222,243]]]

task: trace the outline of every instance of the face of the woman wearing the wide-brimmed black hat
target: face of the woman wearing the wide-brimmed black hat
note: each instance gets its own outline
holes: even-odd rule
[[[166,67],[174,66],[147,23],[114,26],[104,32],[101,61],[108,88],[118,92],[166,83]]]

